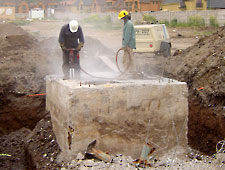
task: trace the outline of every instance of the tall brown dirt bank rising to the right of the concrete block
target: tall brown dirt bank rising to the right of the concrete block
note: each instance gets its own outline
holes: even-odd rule
[[[167,76],[185,81],[189,88],[189,144],[214,153],[225,138],[225,27],[200,39],[166,64]]]

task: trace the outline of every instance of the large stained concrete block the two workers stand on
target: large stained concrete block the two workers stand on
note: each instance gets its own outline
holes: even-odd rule
[[[147,136],[158,154],[187,145],[186,83],[157,78],[80,82],[48,76],[46,84],[53,131],[69,157],[84,152],[95,139],[98,149],[133,158],[140,156]]]

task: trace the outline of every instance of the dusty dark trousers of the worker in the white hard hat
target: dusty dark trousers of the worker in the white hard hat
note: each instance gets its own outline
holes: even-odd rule
[[[75,70],[75,78],[80,78],[80,58],[78,51],[63,51],[63,65],[62,70],[64,78],[69,79],[70,68]]]

